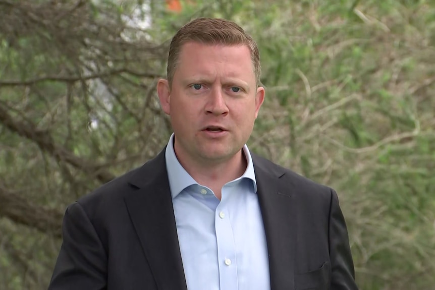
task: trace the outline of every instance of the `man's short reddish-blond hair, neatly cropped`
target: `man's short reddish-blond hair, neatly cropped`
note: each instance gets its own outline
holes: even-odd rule
[[[181,48],[189,41],[211,45],[246,45],[251,52],[255,80],[257,86],[259,85],[261,65],[257,44],[237,23],[221,18],[197,18],[178,30],[169,47],[167,77],[170,85],[174,79]]]

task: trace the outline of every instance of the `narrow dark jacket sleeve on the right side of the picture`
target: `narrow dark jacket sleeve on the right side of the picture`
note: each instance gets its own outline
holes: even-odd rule
[[[331,190],[329,216],[329,249],[331,259],[331,290],[358,290],[349,245],[349,236],[337,193]]]

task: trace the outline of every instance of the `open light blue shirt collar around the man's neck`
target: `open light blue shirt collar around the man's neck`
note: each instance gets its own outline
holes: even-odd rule
[[[245,154],[248,165],[243,175],[236,179],[250,179],[254,185],[254,192],[257,192],[257,182],[255,180],[254,165],[252,163],[251,153],[249,152],[248,146],[245,144],[243,146],[243,151]],[[189,173],[183,168],[177,159],[174,151],[174,133],[172,133],[171,138],[169,138],[168,146],[165,151],[166,158],[166,168],[168,171],[169,187],[171,189],[172,198],[176,198],[185,188],[198,184]]]

